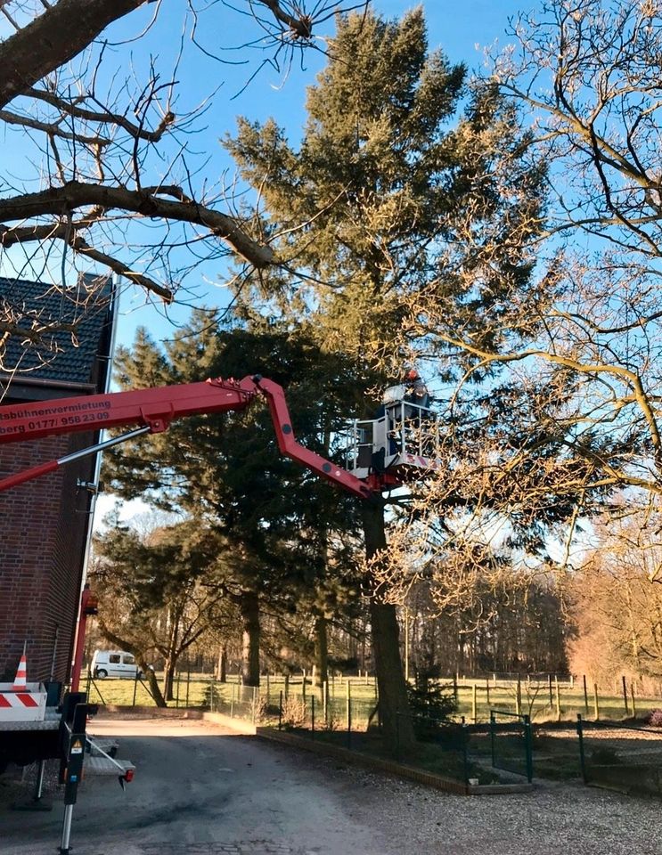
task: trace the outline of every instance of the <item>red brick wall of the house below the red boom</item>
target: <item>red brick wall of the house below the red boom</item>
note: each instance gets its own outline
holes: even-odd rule
[[[89,435],[51,436],[0,445],[0,476],[59,458],[94,442]],[[84,459],[0,493],[0,681],[13,680],[23,642],[28,680],[69,678],[78,614],[91,480]]]

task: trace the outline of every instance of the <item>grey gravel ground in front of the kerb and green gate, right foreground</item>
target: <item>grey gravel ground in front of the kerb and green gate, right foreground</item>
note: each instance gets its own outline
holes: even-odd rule
[[[353,791],[351,798],[347,794],[348,817],[368,826],[378,823],[400,855],[662,852],[658,801],[579,783],[536,783],[527,794],[461,796],[318,762],[329,768],[332,786]]]

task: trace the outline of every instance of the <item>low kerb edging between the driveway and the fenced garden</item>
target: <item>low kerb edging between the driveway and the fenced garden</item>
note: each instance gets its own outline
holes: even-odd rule
[[[530,784],[465,786],[451,778],[442,778],[440,775],[435,775],[432,772],[415,769],[413,766],[405,766],[404,763],[381,760],[378,757],[370,757],[367,754],[350,751],[348,748],[342,748],[339,745],[328,745],[321,740],[315,741],[314,739],[299,737],[297,734],[287,733],[282,730],[257,728],[256,733],[258,737],[263,739],[272,739],[274,742],[281,742],[285,745],[296,745],[296,747],[303,748],[306,751],[323,754],[327,757],[335,757],[347,763],[353,763],[356,766],[363,766],[365,769],[388,772],[391,775],[396,775],[398,778],[406,778],[410,781],[415,781],[417,784],[432,786],[437,790],[444,790],[446,793],[461,795],[511,794],[528,793],[533,788]]]

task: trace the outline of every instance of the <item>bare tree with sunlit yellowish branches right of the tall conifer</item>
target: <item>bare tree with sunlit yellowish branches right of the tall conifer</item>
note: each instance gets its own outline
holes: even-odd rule
[[[582,473],[578,495],[627,487],[643,493],[637,507],[662,493],[661,11],[656,0],[560,0],[514,22],[489,79],[527,111],[524,144],[549,165],[544,221],[529,235],[538,275],[502,311],[472,303],[471,283],[453,312],[424,295],[412,311],[464,359],[457,400],[474,379],[507,378],[513,395],[543,381],[558,405],[538,398],[535,443]],[[471,240],[458,234],[461,247]]]

